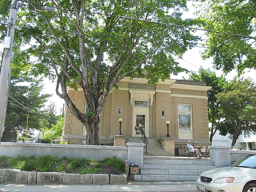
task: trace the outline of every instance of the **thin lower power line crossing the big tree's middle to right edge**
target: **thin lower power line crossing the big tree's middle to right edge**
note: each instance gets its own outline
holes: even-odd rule
[[[28,26],[28,27],[50,29],[50,28],[47,28],[47,27],[31,26],[31,25],[28,25],[28,24],[26,24],[26,23],[25,23],[25,25]],[[18,25],[18,26],[19,26],[19,25]],[[21,25],[21,26],[22,26],[22,25]],[[24,25],[23,25],[23,26],[24,26]],[[75,31],[75,30],[67,30],[67,29],[59,29],[59,28],[53,28],[53,29],[59,30],[59,31],[77,32],[77,31]],[[148,39],[142,39],[142,38],[132,38],[132,37],[117,36],[117,35],[107,35],[107,34],[92,33],[92,32],[90,32],[90,33],[84,32],[84,33],[93,34],[93,35],[102,35],[102,36],[108,36],[108,37],[127,38],[127,39],[135,39],[135,40],[141,40],[141,41],[156,42],[156,43],[166,43],[166,44],[173,44],[173,45],[181,45],[181,46],[183,46],[183,44],[172,43],[172,42],[168,42],[168,41],[155,41],[155,40],[148,40]],[[220,48],[209,48],[209,47],[197,46],[197,45],[195,45],[194,47],[256,55],[256,53],[245,52],[245,51],[235,51],[235,50],[220,49]]]

